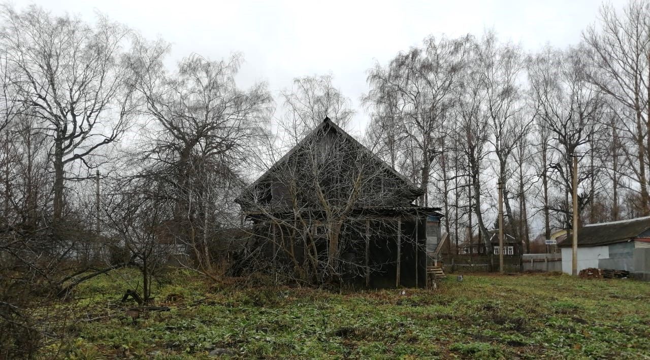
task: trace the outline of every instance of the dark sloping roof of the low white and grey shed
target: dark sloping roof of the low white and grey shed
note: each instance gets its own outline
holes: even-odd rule
[[[601,222],[582,226],[578,230],[578,246],[599,246],[629,241],[634,237],[650,229],[650,216],[638,217],[636,219]],[[571,246],[573,234],[567,232],[567,236],[558,243],[558,246]]]

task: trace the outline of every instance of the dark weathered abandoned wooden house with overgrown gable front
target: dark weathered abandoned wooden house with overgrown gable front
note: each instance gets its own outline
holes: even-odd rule
[[[329,118],[236,202],[257,258],[305,280],[423,287],[440,208]]]

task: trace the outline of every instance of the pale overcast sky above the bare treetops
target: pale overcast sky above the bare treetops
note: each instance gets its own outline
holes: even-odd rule
[[[621,8],[627,0],[614,0]],[[428,34],[480,36],[495,29],[527,51],[545,43],[575,44],[596,21],[599,0],[430,1],[143,1],[41,0],[31,3],[56,14],[91,20],[102,12],[148,38],[172,43],[169,66],[191,53],[218,59],[244,54],[240,86],[265,81],[277,94],[292,78],[331,73],[357,108],[354,132],[367,114],[359,97],[367,92],[367,70],[386,64],[398,51],[419,45]]]

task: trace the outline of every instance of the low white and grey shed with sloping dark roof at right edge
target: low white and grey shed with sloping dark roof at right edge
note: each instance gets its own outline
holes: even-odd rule
[[[558,238],[562,272],[571,274],[571,232]],[[578,230],[578,271],[590,267],[627,270],[634,278],[650,280],[650,217],[601,222]]]

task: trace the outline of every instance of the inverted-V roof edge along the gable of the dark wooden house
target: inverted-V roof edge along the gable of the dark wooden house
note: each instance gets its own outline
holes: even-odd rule
[[[287,162],[296,151],[298,151],[299,149],[304,147],[306,143],[311,141],[311,139],[316,138],[317,136],[320,136],[321,134],[325,134],[326,132],[323,131],[323,130],[324,130],[324,128],[326,128],[328,126],[331,129],[333,129],[335,132],[343,135],[343,137],[346,140],[350,141],[356,147],[361,149],[363,152],[365,152],[367,155],[369,155],[370,158],[372,158],[372,159],[376,160],[376,162],[382,164],[382,167],[385,170],[387,170],[389,173],[394,174],[397,178],[402,180],[402,182],[404,182],[404,184],[409,187],[409,190],[414,195],[422,195],[422,194],[424,194],[424,190],[422,190],[420,187],[415,186],[415,184],[413,184],[410,180],[408,180],[408,178],[406,178],[404,175],[400,174],[398,171],[393,169],[393,167],[389,166],[386,162],[384,162],[382,159],[380,159],[378,156],[376,156],[374,154],[374,152],[370,151],[370,149],[365,147],[363,144],[359,143],[359,141],[357,141],[357,139],[353,138],[350,134],[345,132],[345,130],[343,130],[338,125],[333,123],[333,121],[331,121],[331,119],[329,117],[325,117],[325,119],[323,119],[323,121],[318,126],[316,126],[313,130],[311,130],[311,132],[309,132],[309,134],[307,134],[307,136],[305,136],[302,140],[300,140],[300,142],[298,144],[296,144],[294,147],[292,147],[291,150],[289,150],[289,152],[287,152],[287,154],[282,156],[280,158],[280,160],[278,160],[273,165],[271,165],[271,167],[268,168],[268,170],[266,170],[266,172],[264,174],[262,174],[262,176],[260,176],[259,178],[257,178],[257,180],[255,180],[255,182],[253,182],[253,184],[246,187],[246,189],[244,189],[242,195],[240,195],[239,198],[243,197],[248,192],[252,191],[252,189],[255,188],[255,186],[257,186],[258,184],[263,182],[263,180],[265,180],[271,173],[273,173],[273,171],[275,169],[277,169],[279,167],[279,165]],[[235,201],[237,202],[237,199]]]

